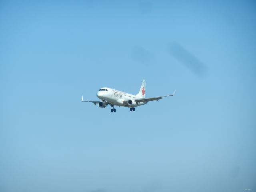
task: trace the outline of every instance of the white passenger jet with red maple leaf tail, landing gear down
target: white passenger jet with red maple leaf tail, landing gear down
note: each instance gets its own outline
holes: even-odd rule
[[[92,102],[94,105],[98,104],[100,108],[105,108],[106,106],[110,105],[112,107],[111,112],[116,112],[114,106],[128,107],[130,108],[130,111],[135,111],[135,107],[147,104],[149,101],[158,101],[163,97],[174,96],[175,92],[176,90],[174,90],[174,93],[171,95],[145,98],[146,81],[143,80],[139,93],[136,95],[108,87],[102,87],[97,92],[97,97],[101,99],[101,101],[85,101],[84,96],[82,96],[81,101]]]

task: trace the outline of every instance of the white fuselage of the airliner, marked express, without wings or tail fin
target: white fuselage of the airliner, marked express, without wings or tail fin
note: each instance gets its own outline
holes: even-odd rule
[[[128,105],[123,101],[124,100],[134,101],[135,99],[139,99],[139,97],[136,95],[125,93],[125,92],[108,88],[108,87],[100,88],[100,90],[97,92],[97,97],[102,101],[108,101],[117,106],[136,107],[136,106],[147,104],[147,102],[137,102],[137,103],[134,102],[134,104]]]

